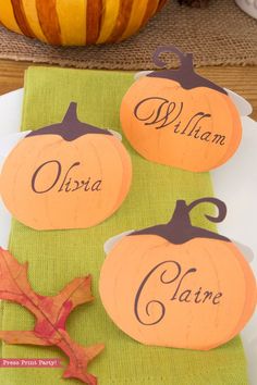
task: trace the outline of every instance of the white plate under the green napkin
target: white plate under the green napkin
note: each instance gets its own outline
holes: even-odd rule
[[[232,95],[232,92],[230,92]],[[20,131],[23,89],[0,97],[0,136]],[[228,206],[227,220],[219,226],[220,233],[248,245],[257,254],[257,123],[247,117],[252,108],[238,96],[243,122],[243,140],[236,154],[222,167],[212,172],[216,196]],[[1,160],[0,160],[1,161]],[[0,201],[0,246],[8,248],[11,215]],[[257,275],[257,258],[252,262]],[[252,385],[257,385],[257,312],[242,332],[248,360]],[[224,384],[225,385],[225,384]]]

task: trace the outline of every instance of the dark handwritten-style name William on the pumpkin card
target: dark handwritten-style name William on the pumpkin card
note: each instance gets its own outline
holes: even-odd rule
[[[211,114],[199,111],[186,122],[183,122],[184,109],[183,102],[150,97],[139,101],[134,109],[134,115],[138,121],[144,122],[145,126],[154,126],[156,129],[170,127],[176,135],[185,135],[193,139],[219,146],[225,145],[225,135],[206,131],[203,127],[211,119]]]

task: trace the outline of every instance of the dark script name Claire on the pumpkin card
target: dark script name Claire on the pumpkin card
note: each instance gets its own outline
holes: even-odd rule
[[[171,276],[169,275],[169,270],[172,271]],[[210,306],[218,306],[221,301],[222,293],[210,289],[203,289],[201,286],[197,290],[188,288],[189,277],[197,273],[197,269],[192,268],[183,271],[181,264],[176,261],[163,261],[152,268],[149,273],[145,276],[140,283],[138,290],[135,296],[134,302],[134,313],[137,321],[143,325],[156,325],[161,322],[167,314],[167,307],[172,301],[179,301],[181,303],[195,303],[196,306],[201,306],[208,303]],[[149,281],[158,276],[160,285],[170,286],[170,297],[166,299],[152,299],[146,303],[146,306],[140,307],[144,301],[144,293],[147,290],[147,284]],[[156,285],[156,293],[158,294],[158,285]],[[152,319],[151,307],[158,307],[159,315]],[[157,309],[157,308],[156,308]],[[145,320],[149,321],[145,321]]]

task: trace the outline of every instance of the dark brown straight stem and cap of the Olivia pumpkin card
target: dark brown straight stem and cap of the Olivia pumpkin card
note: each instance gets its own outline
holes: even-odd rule
[[[77,104],[75,102],[71,102],[68,112],[61,123],[33,131],[26,135],[26,138],[39,135],[59,135],[66,141],[73,141],[87,134],[102,134],[113,136],[107,129],[101,129],[91,126],[90,124],[79,122],[76,114],[76,108]]]

